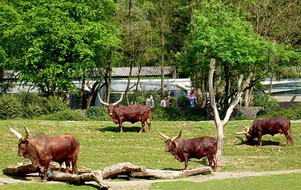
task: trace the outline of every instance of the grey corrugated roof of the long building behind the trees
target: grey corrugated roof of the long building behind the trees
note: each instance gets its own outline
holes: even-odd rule
[[[112,77],[127,77],[129,75],[130,67],[113,67],[112,68]],[[139,67],[133,67],[131,76],[138,76]],[[161,75],[161,66],[142,66],[140,71],[140,76],[160,76]],[[176,75],[175,66],[165,66],[164,75],[174,76]]]

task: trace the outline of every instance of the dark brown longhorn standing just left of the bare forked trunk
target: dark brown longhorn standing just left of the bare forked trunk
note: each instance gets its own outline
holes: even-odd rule
[[[176,139],[181,137],[182,130],[178,136],[173,138],[168,137],[167,135],[161,133],[157,129],[158,133],[166,138],[166,148],[165,151],[174,154],[174,157],[180,162],[185,161],[185,169],[188,169],[188,159],[197,158],[201,159],[202,157],[208,158],[209,166],[212,166],[212,161],[214,162],[214,171],[217,168],[216,160],[216,150],[217,150],[217,140],[211,136],[203,136],[192,139]]]

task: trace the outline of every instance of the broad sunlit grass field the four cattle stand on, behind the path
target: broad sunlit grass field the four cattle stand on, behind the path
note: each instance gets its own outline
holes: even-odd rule
[[[223,153],[220,160],[222,171],[301,169],[299,153],[301,148],[301,121],[291,122],[291,133],[295,145],[285,146],[285,136],[276,134],[274,136],[264,135],[261,147],[246,145],[244,135],[231,134],[231,132],[244,129],[241,122],[246,125],[252,123],[251,120],[229,121],[225,128]],[[18,139],[8,129],[8,125],[10,125],[21,134],[24,134],[23,124],[29,128],[30,137],[35,136],[38,132],[44,132],[48,135],[73,134],[79,139],[81,145],[78,167],[85,166],[94,170],[100,170],[120,162],[131,162],[135,165],[143,165],[153,169],[184,169],[184,162],[179,162],[172,154],[164,151],[164,138],[157,133],[156,129],[170,137],[176,136],[180,130],[182,130],[181,138],[205,135],[216,137],[214,121],[152,121],[152,133],[150,134],[145,132],[138,134],[141,126],[139,122],[135,124],[124,122],[124,132],[119,134],[117,133],[118,125],[112,121],[1,120],[1,170],[17,162],[30,161],[17,155]],[[207,158],[200,160],[193,158],[188,162],[188,167],[197,168],[207,164]],[[0,176],[10,177],[2,172]],[[30,188],[27,185],[34,184],[24,185]],[[5,186],[6,188],[9,187],[8,189],[18,189],[17,186],[13,187],[13,185]],[[1,187],[2,185],[0,185]],[[71,187],[71,189],[76,189],[76,185],[71,185]],[[46,188],[48,189],[48,187]],[[89,189],[89,186],[85,188]]]

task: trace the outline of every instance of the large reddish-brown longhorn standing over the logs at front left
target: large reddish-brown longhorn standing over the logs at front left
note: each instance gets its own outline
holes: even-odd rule
[[[48,136],[44,133],[38,133],[33,138],[28,138],[30,133],[24,126],[26,134],[23,137],[19,132],[9,126],[10,130],[16,134],[19,139],[18,155],[30,158],[32,163],[37,166],[42,182],[47,181],[47,170],[51,160],[57,161],[62,166],[66,164],[66,174],[70,169],[72,161],[72,174],[78,174],[77,157],[79,153],[79,141],[73,135]],[[44,177],[41,168],[44,166]]]

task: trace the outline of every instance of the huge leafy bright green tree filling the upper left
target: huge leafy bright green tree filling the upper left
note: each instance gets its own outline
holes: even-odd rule
[[[11,63],[22,72],[20,79],[48,96],[74,91],[72,80],[81,79],[85,68],[99,66],[96,53],[108,45],[101,42],[118,35],[107,19],[114,13],[113,0],[5,2],[20,15],[15,27],[6,30],[4,40],[17,42],[7,55],[18,60]]]

